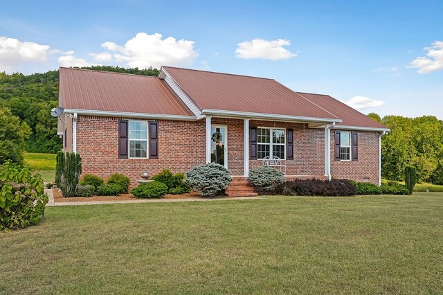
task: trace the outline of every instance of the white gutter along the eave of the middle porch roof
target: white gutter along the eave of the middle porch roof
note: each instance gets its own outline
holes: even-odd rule
[[[277,114],[262,114],[250,113],[248,111],[226,111],[221,109],[203,109],[202,114],[213,116],[224,116],[230,118],[251,118],[257,120],[282,120],[282,121],[297,121],[297,122],[312,122],[312,123],[341,123],[341,119],[334,118],[314,118],[302,116],[287,116]]]

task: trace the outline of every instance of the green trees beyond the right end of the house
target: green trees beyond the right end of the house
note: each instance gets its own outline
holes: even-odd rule
[[[443,120],[435,116],[368,116],[391,129],[381,140],[383,178],[404,181],[405,168],[413,166],[419,181],[443,184]]]

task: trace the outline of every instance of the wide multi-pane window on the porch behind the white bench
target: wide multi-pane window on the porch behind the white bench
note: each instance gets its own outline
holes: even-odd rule
[[[271,154],[284,158],[284,129],[257,128],[257,159],[264,159]]]

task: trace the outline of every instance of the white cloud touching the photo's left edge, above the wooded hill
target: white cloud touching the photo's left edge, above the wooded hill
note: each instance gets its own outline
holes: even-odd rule
[[[50,46],[0,36],[0,71],[17,71],[24,63],[44,63]]]

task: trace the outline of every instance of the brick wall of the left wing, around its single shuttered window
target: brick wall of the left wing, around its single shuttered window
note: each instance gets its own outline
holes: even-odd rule
[[[136,186],[144,171],[155,175],[163,168],[186,172],[205,163],[205,121],[159,121],[159,159],[118,159],[118,120],[79,116],[77,151],[82,157],[82,173],[107,179],[122,173]]]

